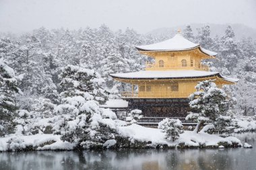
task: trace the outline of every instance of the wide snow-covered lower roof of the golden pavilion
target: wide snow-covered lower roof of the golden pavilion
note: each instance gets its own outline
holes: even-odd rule
[[[186,79],[218,76],[226,81],[237,82],[238,79],[222,77],[218,72],[210,71],[137,71],[132,73],[111,74],[111,77],[119,79]]]

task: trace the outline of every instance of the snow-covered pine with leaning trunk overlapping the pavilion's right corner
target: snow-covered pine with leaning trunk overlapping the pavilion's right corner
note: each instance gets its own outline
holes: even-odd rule
[[[227,116],[230,99],[219,89],[214,80],[201,81],[196,86],[194,93],[189,96],[192,113],[186,119],[197,117],[195,132],[199,132],[205,122],[218,124],[220,116]]]

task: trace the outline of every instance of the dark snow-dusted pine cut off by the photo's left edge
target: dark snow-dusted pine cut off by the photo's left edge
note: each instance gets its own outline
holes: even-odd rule
[[[15,111],[15,95],[20,94],[13,69],[0,58],[0,136],[13,132]]]

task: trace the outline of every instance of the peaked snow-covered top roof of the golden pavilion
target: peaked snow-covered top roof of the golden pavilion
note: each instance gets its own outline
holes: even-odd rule
[[[136,46],[136,48],[142,51],[181,51],[181,50],[192,50],[195,48],[199,48],[201,52],[209,56],[217,55],[216,52],[212,52],[210,50],[201,48],[200,44],[195,44],[187,40],[181,34],[176,34],[173,38],[170,38],[169,40],[165,40],[163,42],[158,42],[155,44],[150,44],[145,46]]]

